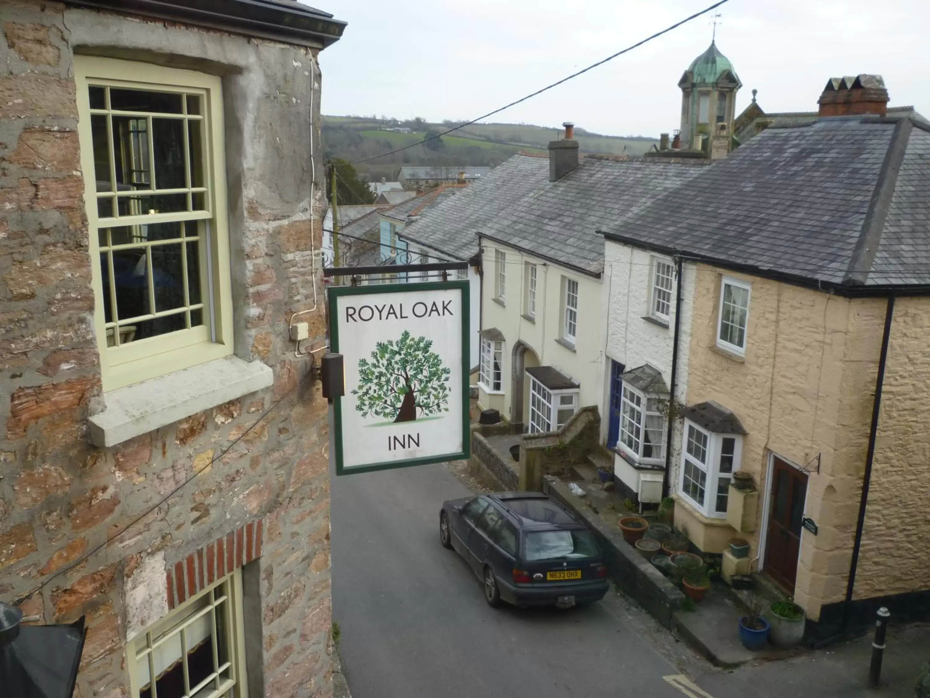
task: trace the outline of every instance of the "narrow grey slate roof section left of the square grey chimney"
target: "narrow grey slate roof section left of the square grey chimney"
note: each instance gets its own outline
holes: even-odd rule
[[[549,158],[516,154],[442,202],[418,221],[407,223],[398,235],[457,260],[478,253],[478,237],[485,221],[501,215],[516,201],[549,181]]]

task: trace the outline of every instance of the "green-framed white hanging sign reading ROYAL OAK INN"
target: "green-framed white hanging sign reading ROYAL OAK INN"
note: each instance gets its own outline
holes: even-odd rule
[[[469,457],[468,281],[334,287],[336,474]]]

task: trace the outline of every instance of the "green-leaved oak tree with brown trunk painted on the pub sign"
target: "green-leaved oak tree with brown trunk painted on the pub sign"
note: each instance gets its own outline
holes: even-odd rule
[[[394,342],[378,342],[370,358],[358,362],[355,409],[394,422],[413,422],[449,411],[449,376],[432,340],[404,330]],[[419,414],[418,414],[419,410]]]

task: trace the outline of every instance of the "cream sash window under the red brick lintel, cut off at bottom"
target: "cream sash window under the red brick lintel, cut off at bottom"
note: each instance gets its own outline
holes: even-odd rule
[[[127,643],[132,698],[245,698],[240,579],[236,570]]]

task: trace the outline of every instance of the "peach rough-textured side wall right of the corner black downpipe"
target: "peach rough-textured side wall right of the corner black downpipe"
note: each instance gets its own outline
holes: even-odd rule
[[[928,310],[925,298],[895,301],[855,598],[930,588]]]

